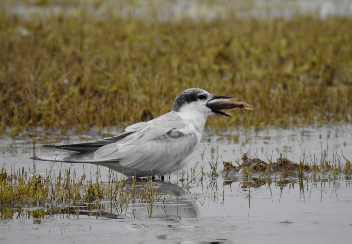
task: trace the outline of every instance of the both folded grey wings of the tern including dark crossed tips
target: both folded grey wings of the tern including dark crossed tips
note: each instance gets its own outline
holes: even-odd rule
[[[170,119],[173,118],[173,119]],[[153,121],[153,122],[152,122]],[[180,123],[178,115],[158,117],[126,128],[118,136],[63,146],[45,147],[74,152],[58,154],[57,161],[63,162],[117,162],[122,167],[137,170],[159,171],[177,167],[186,159],[200,138],[191,134],[188,125]],[[50,156],[54,161],[55,155]],[[176,166],[175,166],[176,165]]]

